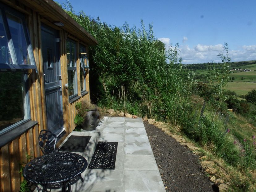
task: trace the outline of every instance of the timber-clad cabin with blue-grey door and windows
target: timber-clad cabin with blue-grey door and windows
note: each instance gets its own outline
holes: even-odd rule
[[[0,192],[19,191],[19,164],[42,155],[40,130],[57,145],[74,130],[75,104],[90,98],[90,45],[54,1],[0,0]]]

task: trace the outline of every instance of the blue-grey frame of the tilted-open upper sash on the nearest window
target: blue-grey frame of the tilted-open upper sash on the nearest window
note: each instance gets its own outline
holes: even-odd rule
[[[6,37],[7,37],[7,41],[8,41],[8,48],[10,50],[10,54],[11,54],[11,59],[12,62],[14,64],[6,64],[6,63],[0,63],[0,70],[4,69],[11,69],[11,70],[28,70],[28,69],[35,69],[36,73],[38,73],[37,67],[36,67],[36,61],[34,58],[34,53],[33,53],[33,49],[32,49],[32,45],[31,45],[31,41],[29,38],[29,32],[28,32],[28,26],[26,23],[26,17],[25,15],[23,15],[22,13],[12,9],[9,6],[6,6],[2,3],[0,3],[0,11],[1,11],[1,15],[2,15],[2,19],[3,19],[3,27],[6,33]],[[28,51],[28,57],[30,59],[31,64],[19,64],[18,60],[17,60],[17,56],[15,53],[15,48],[14,48],[14,44],[11,38],[11,32],[9,29],[9,25],[8,25],[8,21],[7,21],[7,16],[6,13],[10,14],[10,15],[14,15],[15,17],[19,18],[21,21],[21,25],[22,25],[22,29],[23,29],[23,33],[25,36],[25,42],[27,44],[27,51]]]

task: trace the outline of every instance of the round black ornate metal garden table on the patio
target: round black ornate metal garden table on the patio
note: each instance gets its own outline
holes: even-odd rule
[[[70,179],[79,176],[87,168],[87,160],[76,153],[55,152],[30,161],[23,169],[23,177],[32,183],[41,184],[43,192],[47,184],[61,183],[62,192],[70,189]]]

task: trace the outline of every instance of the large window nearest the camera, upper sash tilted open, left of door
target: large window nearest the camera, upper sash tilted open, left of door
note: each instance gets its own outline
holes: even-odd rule
[[[30,120],[28,69],[36,65],[25,17],[0,3],[0,135]]]

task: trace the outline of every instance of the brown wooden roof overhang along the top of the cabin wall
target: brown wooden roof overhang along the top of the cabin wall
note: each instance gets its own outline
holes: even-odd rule
[[[38,12],[51,23],[66,30],[88,45],[97,45],[98,41],[72,19],[57,3],[52,0],[23,0],[24,5]],[[58,23],[56,23],[58,22]],[[59,24],[59,25],[58,25]]]

